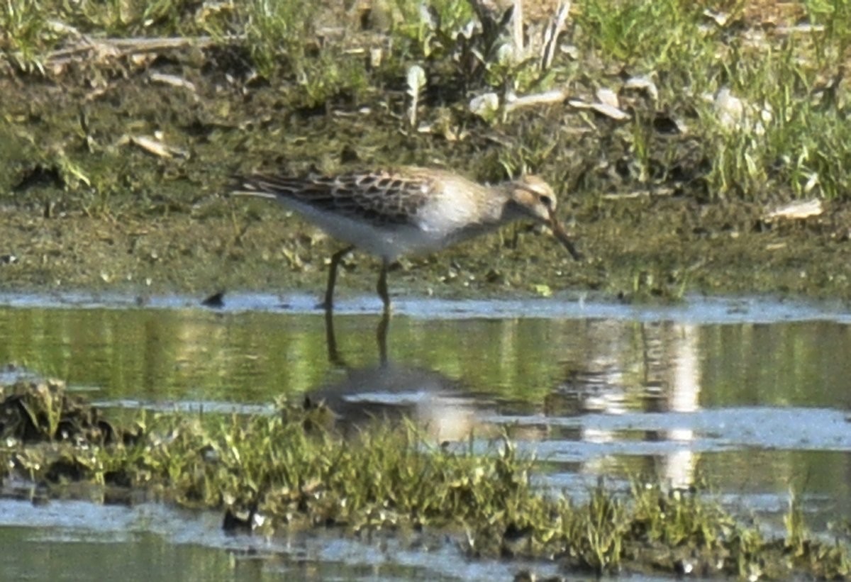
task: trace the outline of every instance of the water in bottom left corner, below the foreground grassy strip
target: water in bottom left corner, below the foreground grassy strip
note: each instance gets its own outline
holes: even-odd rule
[[[0,499],[3,580],[511,579],[517,564],[465,562],[451,547],[415,551],[334,532],[274,539],[225,534],[214,512],[56,500]],[[440,559],[435,559],[439,556]],[[540,568],[539,568],[540,569]],[[544,571],[557,572],[553,564]]]

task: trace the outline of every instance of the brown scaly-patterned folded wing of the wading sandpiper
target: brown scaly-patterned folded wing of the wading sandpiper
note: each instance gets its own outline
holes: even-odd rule
[[[307,178],[254,174],[242,179],[238,193],[274,196],[374,225],[415,225],[433,187],[427,175],[390,171]]]

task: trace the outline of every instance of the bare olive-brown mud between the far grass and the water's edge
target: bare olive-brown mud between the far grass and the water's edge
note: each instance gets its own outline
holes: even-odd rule
[[[628,128],[597,120],[597,134],[578,133],[585,121],[565,104],[453,141],[412,134],[381,113],[395,99],[391,90],[360,107],[288,110],[282,87],[222,85],[220,72],[186,63],[161,68],[191,80],[194,91],[151,83],[151,70],[124,70],[95,90],[89,68],[38,83],[0,77],[8,97],[0,116],[12,122],[0,124],[0,289],[319,294],[340,244],[273,203],[227,197],[233,174],[411,163],[482,181],[525,165],[554,186],[585,260],[575,263],[544,232],[509,226],[403,260],[391,273],[393,294],[851,298],[848,203],[825,201],[806,219],[768,220],[788,193],[715,196],[701,177],[706,160],[689,161],[690,136],[655,136],[659,177],[639,182],[618,171],[630,155]],[[436,106],[435,115],[444,109]],[[557,131],[548,134],[553,123]],[[147,151],[134,141],[139,135],[158,135],[174,149]],[[679,157],[661,166],[672,149]],[[376,265],[353,255],[340,294],[373,293]]]

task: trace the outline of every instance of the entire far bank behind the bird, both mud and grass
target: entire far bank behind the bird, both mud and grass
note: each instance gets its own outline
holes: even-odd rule
[[[848,45],[848,14],[791,3],[766,33],[759,5],[706,14],[585,0],[544,66],[505,60],[509,20],[465,0],[435,0],[429,14],[306,2],[117,14],[15,0],[0,14],[0,287],[318,290],[324,235],[224,200],[229,176],[417,164],[490,181],[541,174],[589,260],[568,264],[544,237],[508,229],[403,263],[403,293],[848,299],[851,139],[828,58]],[[537,49],[553,13],[527,9]],[[781,31],[802,18],[826,26]],[[178,31],[213,36],[163,38]],[[411,128],[414,64],[427,80]],[[571,105],[609,87],[628,120]],[[469,107],[551,88],[571,99],[488,119]],[[719,108],[726,89],[738,109]],[[773,113],[757,128],[761,104]],[[802,196],[831,203],[807,220],[765,220],[775,200]],[[372,287],[361,260],[347,262],[346,289]]]

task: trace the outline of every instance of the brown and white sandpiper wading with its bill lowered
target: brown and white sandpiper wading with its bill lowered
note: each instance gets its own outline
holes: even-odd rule
[[[406,167],[307,178],[253,174],[241,180],[233,194],[277,200],[348,243],[328,266],[326,310],[334,303],[337,266],[356,247],[382,260],[378,294],[385,311],[390,309],[387,268],[393,261],[437,251],[514,220],[549,226],[574,259],[581,259],[556,218],[555,193],[537,176],[488,186],[443,169]]]

